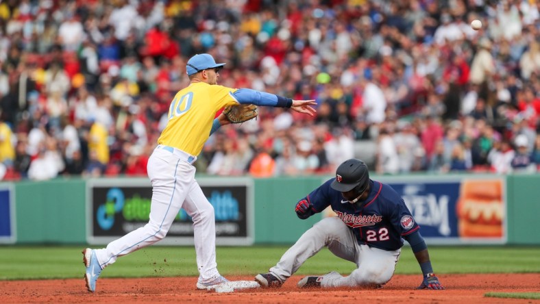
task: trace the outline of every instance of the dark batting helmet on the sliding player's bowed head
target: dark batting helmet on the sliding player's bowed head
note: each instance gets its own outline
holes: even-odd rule
[[[356,158],[345,160],[336,170],[336,179],[330,186],[339,192],[349,192],[355,189],[362,193],[369,185],[369,170],[367,164]]]

